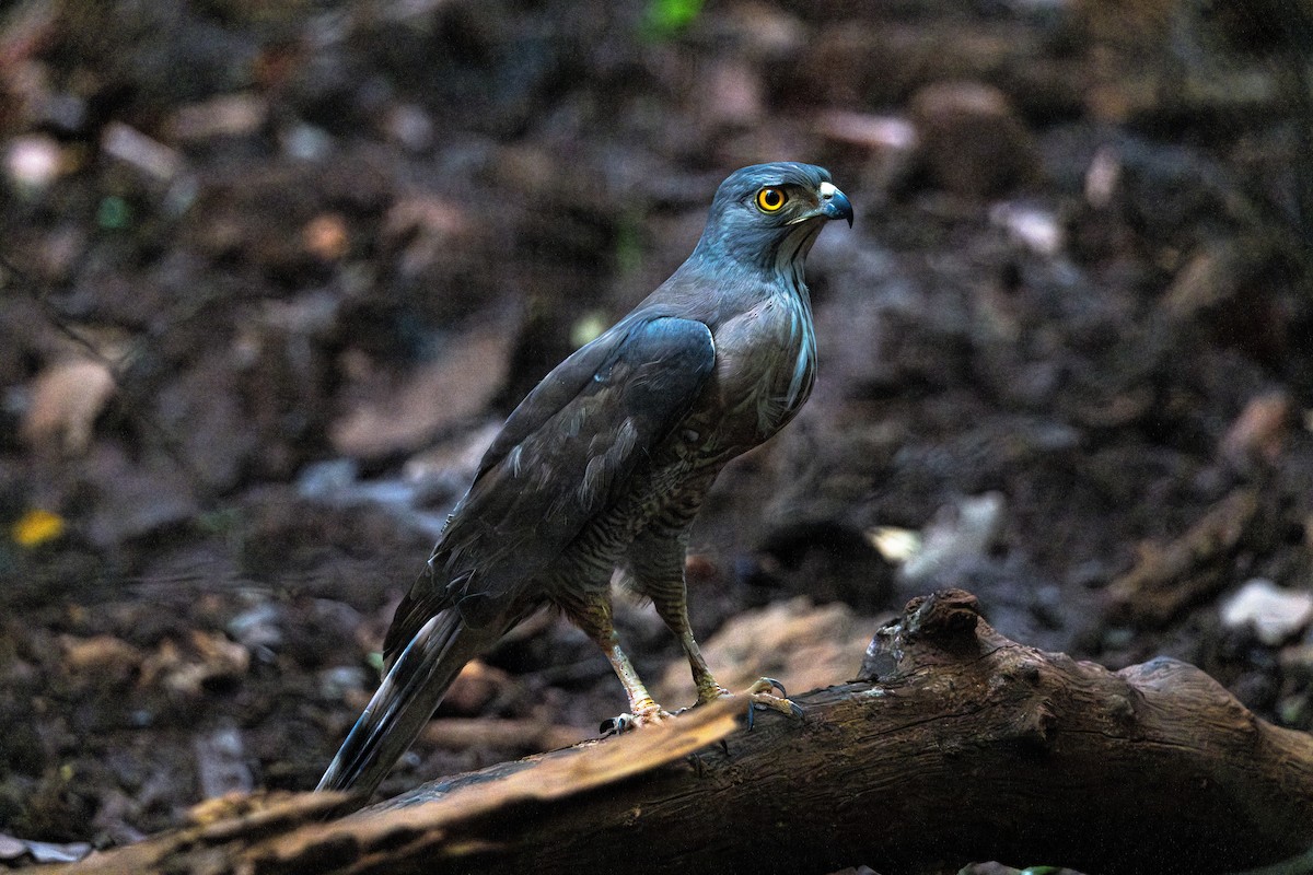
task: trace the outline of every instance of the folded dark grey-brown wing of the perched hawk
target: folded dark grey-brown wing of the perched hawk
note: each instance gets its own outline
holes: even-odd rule
[[[689,412],[716,366],[710,329],[626,319],[555,367],[507,420],[433,556],[398,606],[391,659],[440,610],[499,624]]]

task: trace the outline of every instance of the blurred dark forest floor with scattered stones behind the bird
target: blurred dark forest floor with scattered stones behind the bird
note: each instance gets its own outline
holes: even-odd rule
[[[689,559],[722,682],[956,585],[1313,724],[1308,0],[47,0],[0,12],[0,861],[309,790],[498,424],[716,185],[827,167],[821,376]],[[692,699],[654,613],[621,636]],[[553,615],[385,790],[624,706]],[[30,840],[30,841],[16,841]]]

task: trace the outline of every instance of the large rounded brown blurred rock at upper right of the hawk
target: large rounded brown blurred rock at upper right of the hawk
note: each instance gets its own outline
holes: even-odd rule
[[[1029,130],[1007,97],[977,81],[943,81],[918,91],[910,104],[920,160],[935,185],[982,198],[1039,172]]]

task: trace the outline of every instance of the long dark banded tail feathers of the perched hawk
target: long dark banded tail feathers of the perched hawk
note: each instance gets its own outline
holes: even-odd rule
[[[470,627],[458,610],[441,611],[424,623],[383,676],[316,790],[373,792],[433,716],[465,664],[503,631]]]

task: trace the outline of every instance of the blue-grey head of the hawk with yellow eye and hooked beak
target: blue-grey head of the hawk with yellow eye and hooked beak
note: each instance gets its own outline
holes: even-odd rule
[[[695,254],[796,270],[830,219],[852,226],[852,205],[829,171],[794,161],[754,164],[721,182]]]

